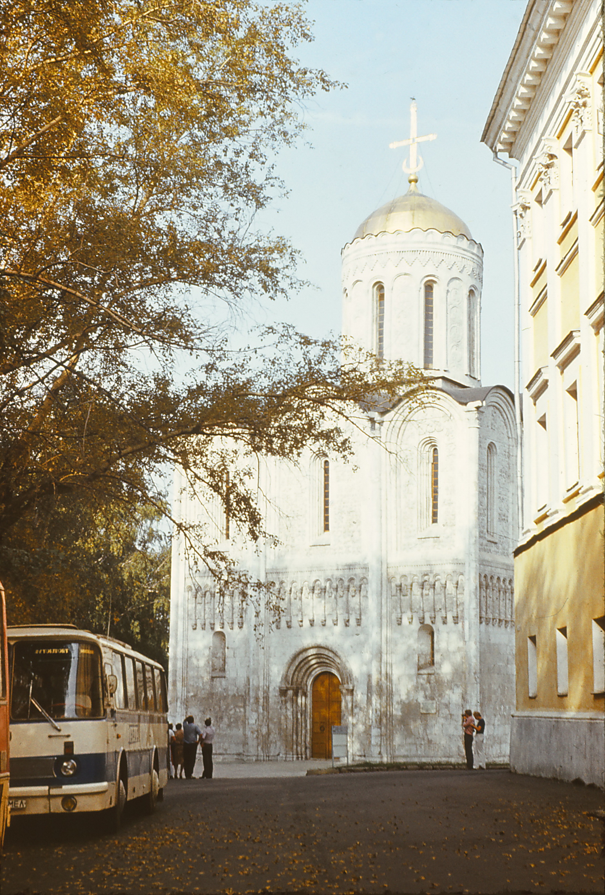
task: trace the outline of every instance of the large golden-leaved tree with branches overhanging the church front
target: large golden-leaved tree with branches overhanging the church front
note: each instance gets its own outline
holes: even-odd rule
[[[296,286],[254,215],[298,107],[334,86],[291,55],[308,22],[250,0],[14,0],[0,30],[0,541],[57,499],[163,509],[175,463],[260,537],[217,436],[346,453],[347,407],[422,380],[289,328],[234,353],[220,328]]]

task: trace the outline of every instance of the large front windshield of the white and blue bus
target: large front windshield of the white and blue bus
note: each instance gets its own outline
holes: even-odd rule
[[[11,717],[102,718],[101,653],[96,644],[22,640],[14,644]]]

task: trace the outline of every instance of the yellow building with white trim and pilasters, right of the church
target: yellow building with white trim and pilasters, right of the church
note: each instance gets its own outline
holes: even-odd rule
[[[601,3],[530,0],[481,138],[517,163],[524,493],[510,762],[601,786],[602,72]]]

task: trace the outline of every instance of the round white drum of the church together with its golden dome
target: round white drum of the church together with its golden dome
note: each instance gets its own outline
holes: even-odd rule
[[[412,187],[343,249],[343,332],[364,351],[477,386],[483,251],[459,217]]]

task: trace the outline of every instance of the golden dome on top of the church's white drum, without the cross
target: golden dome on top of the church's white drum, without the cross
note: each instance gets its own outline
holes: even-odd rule
[[[439,233],[451,233],[454,236],[462,234],[467,239],[473,239],[471,231],[453,211],[441,205],[435,199],[422,195],[410,177],[410,189],[405,196],[399,196],[372,211],[370,217],[366,217],[362,226],[357,228],[354,239],[379,233],[396,233],[403,230],[438,230]]]

